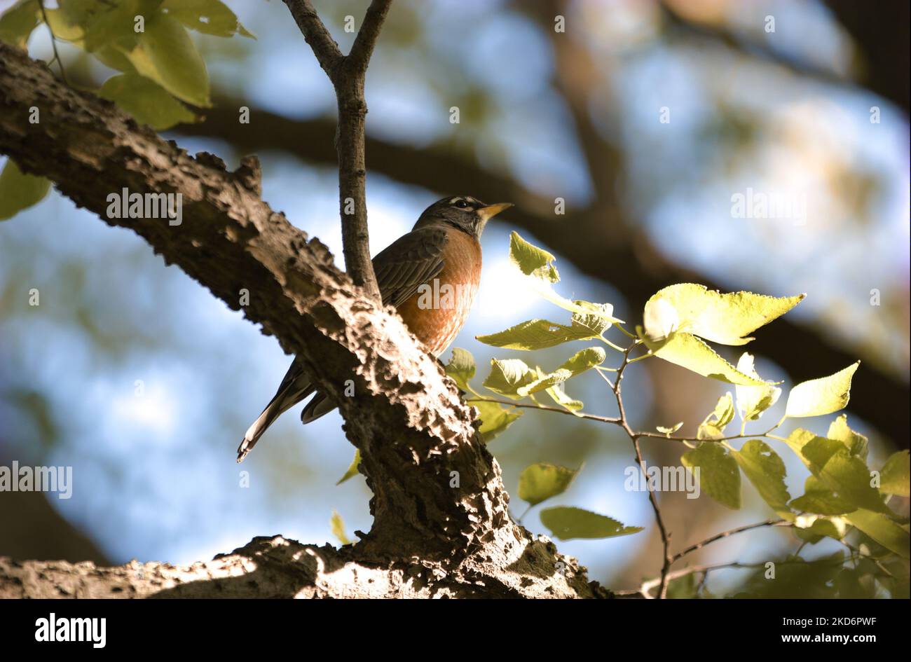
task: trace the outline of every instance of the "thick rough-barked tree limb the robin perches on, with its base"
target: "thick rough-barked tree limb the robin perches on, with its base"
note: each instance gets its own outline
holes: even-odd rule
[[[37,124],[29,122],[32,107],[40,111]],[[255,539],[208,564],[147,565],[143,576],[136,565],[5,560],[0,596],[608,595],[575,559],[512,521],[475,411],[391,309],[363,296],[318,239],[261,199],[255,158],[233,172],[210,154],[193,158],[3,44],[0,152],[51,178],[109,225],[137,232],[232,309],[241,308],[240,290],[249,290],[246,317],[301,357],[339,402],[374,492],[371,531],[342,550]],[[181,194],[182,224],[107,218],[107,196],[122,188]],[[339,375],[354,380],[353,397],[343,397]],[[185,582],[196,584],[172,590]]]

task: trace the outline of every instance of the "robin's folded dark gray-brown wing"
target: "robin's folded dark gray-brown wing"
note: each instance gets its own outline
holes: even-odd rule
[[[446,231],[420,228],[396,239],[374,258],[376,281],[383,303],[398,308],[417,289],[443,270]]]

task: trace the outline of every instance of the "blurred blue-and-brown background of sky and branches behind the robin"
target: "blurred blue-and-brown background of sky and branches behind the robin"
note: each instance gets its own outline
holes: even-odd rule
[[[10,4],[0,0],[0,11]],[[346,51],[344,17],[359,25],[365,3],[315,4]],[[263,198],[340,256],[332,88],[284,5],[228,5],[258,39],[194,34],[215,106],[166,135],[229,168],[258,153]],[[517,204],[486,230],[480,300],[455,341],[479,366],[509,352],[476,335],[555,314],[512,276],[512,229],[558,254],[562,294],[611,302],[627,321],[640,319],[651,293],[682,280],[807,292],[789,315],[796,325],[774,322],[747,349],[760,374],[786,386],[863,359],[848,415],[870,436],[878,466],[909,439],[907,14],[902,0],[396,0],[367,76],[372,249],[445,195]],[[565,16],[564,34],[555,15]],[[769,15],[774,33],[764,30]],[[42,29],[29,47],[52,57]],[[58,47],[72,79],[97,87],[111,75]],[[242,106],[249,125],[238,121]],[[662,107],[670,123],[660,122]],[[805,195],[806,218],[732,218],[732,195],[747,188]],[[565,215],[554,214],[555,198],[566,200]],[[39,306],[29,305],[32,289]],[[871,290],[881,305],[871,305]],[[566,351],[534,360],[557,366]],[[56,192],[4,222],[0,463],[72,465],[74,494],[0,494],[0,555],[187,563],[253,535],[333,541],[333,509],[349,535],[368,530],[363,478],[334,485],[352,455],[335,412],[304,428],[295,408],[234,464],[289,362],[142,239]],[[627,379],[640,429],[684,421],[691,432],[729,390],[664,362],[633,366]],[[586,411],[614,413],[594,373],[574,380],[572,395]],[[782,407],[767,417],[777,420]],[[808,427],[824,433],[828,423]],[[644,443],[650,463],[679,463],[683,450]],[[529,463],[585,463],[554,504],[646,530],[564,542],[561,551],[614,588],[655,574],[660,539],[646,494],[623,489],[633,458],[619,430],[526,412],[491,451],[510,491]],[[788,474],[800,494],[804,468],[794,460]],[[736,512],[705,495],[662,494],[660,503],[675,548],[770,514],[750,487]],[[546,533],[538,509],[524,522]],[[786,531],[760,529],[691,560],[760,563],[796,547]],[[819,560],[819,595],[834,595],[838,575],[826,568],[840,549],[824,541],[802,553]],[[671,595],[750,590],[751,573],[713,572],[705,586],[675,583]],[[792,575],[776,590],[803,595],[808,575]]]

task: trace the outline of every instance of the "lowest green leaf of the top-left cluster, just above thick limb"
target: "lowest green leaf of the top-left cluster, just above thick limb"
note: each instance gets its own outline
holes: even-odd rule
[[[159,131],[197,121],[197,117],[171,97],[164,87],[138,74],[111,76],[98,90],[98,96],[110,99],[136,117],[140,124],[148,124]]]

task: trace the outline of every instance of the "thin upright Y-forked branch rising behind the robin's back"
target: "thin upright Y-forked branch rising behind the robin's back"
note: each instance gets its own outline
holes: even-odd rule
[[[364,186],[367,177],[363,156],[367,103],[363,97],[363,83],[391,3],[392,0],[374,0],[370,4],[363,25],[354,38],[351,53],[343,56],[310,0],[285,0],[304,39],[335,88],[339,113],[335,147],[339,162],[339,212],[342,216],[344,263],[354,283],[377,301],[380,300],[380,289],[370,260]]]

